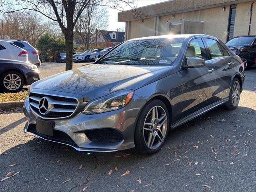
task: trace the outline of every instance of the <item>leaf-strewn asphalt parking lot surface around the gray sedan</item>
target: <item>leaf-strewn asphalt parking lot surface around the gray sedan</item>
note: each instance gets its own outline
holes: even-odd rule
[[[64,70],[64,64],[56,65],[43,64],[42,77]],[[13,176],[0,182],[1,191],[253,192],[255,81],[256,67],[246,71],[236,110],[219,107],[172,130],[162,150],[152,156],[132,150],[78,152],[23,134],[23,113],[5,112],[0,115],[0,180],[8,172]]]

